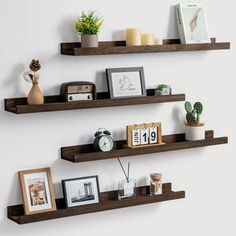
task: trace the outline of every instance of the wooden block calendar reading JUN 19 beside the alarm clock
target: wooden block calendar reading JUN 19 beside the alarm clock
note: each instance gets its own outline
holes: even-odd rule
[[[139,124],[127,126],[128,147],[161,145],[161,123]]]

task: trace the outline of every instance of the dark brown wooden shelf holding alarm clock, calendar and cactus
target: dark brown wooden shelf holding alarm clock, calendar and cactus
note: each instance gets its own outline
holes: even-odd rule
[[[213,131],[206,131],[206,138],[198,141],[186,141],[185,134],[163,136],[165,144],[140,148],[126,147],[126,140],[116,141],[116,149],[110,152],[96,152],[92,144],[62,147],[61,158],[70,162],[97,161],[116,157],[137,156],[151,153],[168,152],[182,149],[199,148],[205,146],[228,143],[228,137],[214,138]]]

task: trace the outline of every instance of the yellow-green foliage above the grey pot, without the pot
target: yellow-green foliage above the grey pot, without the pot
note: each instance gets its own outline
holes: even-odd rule
[[[103,24],[103,20],[96,11],[82,12],[79,19],[75,21],[75,29],[82,35],[97,34]]]

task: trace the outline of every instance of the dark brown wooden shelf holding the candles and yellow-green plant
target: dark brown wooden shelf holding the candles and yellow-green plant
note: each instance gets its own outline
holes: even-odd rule
[[[133,53],[160,53],[160,52],[184,52],[184,51],[205,51],[230,49],[229,42],[216,42],[215,38],[211,43],[204,44],[180,44],[179,39],[164,40],[163,45],[154,46],[126,46],[125,41],[100,42],[98,48],[81,48],[80,43],[62,43],[61,54],[69,56],[91,56],[108,54],[133,54]]]

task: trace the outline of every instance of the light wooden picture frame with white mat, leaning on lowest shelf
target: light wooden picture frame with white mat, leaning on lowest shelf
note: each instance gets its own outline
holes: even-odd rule
[[[56,210],[50,168],[19,171],[25,215]]]

